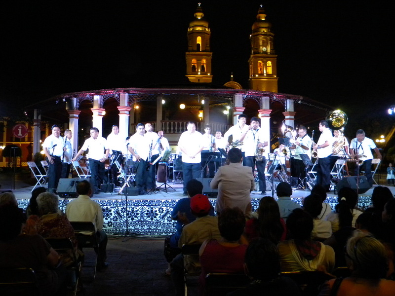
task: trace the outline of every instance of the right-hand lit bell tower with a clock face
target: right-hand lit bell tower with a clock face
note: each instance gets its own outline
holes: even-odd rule
[[[266,21],[262,5],[252,25],[249,86],[253,90],[277,92],[277,55],[273,45],[272,24]]]

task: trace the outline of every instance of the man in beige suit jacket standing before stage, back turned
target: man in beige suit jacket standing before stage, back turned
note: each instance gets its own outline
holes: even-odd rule
[[[255,189],[251,167],[243,166],[238,148],[229,150],[228,160],[230,164],[220,167],[210,183],[212,189],[218,189],[215,210],[221,213],[225,208],[237,207],[248,214],[252,209],[250,192]]]

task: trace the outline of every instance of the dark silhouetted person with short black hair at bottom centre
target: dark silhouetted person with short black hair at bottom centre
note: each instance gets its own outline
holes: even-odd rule
[[[280,276],[280,257],[275,244],[255,238],[245,252],[244,271],[251,278],[247,288],[228,296],[300,296],[302,291],[290,278]]]

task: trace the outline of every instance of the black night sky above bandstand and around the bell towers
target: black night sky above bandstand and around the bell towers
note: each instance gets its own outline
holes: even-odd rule
[[[1,20],[1,102],[20,108],[61,93],[186,81],[187,29],[197,2],[10,4]],[[262,3],[275,33],[279,92],[351,114],[395,103],[392,1],[201,2],[214,84],[233,72],[248,88],[249,35]]]

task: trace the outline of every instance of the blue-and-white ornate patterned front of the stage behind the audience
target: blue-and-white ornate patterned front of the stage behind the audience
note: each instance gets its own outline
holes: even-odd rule
[[[172,185],[172,184],[171,184]],[[98,202],[104,214],[104,230],[108,234],[124,235],[126,231],[126,216],[128,220],[129,234],[137,235],[169,235],[175,232],[175,222],[171,220],[170,214],[182,195],[182,185],[172,185],[176,191],[168,190],[169,193],[159,192],[157,194],[144,196],[128,196],[127,210],[125,196],[117,193],[101,193],[95,195],[92,199]],[[15,195],[18,199],[20,207],[26,208],[32,187],[15,190]],[[395,188],[390,187],[393,194]],[[370,196],[373,188],[366,193],[359,195],[358,207],[366,208],[370,205]],[[296,190],[292,198],[298,203],[302,203],[305,196],[309,195],[310,191]],[[267,192],[267,195],[272,195]],[[252,207],[254,211],[258,208],[261,194],[258,192],[251,192]],[[276,193],[274,197],[277,198]],[[66,205],[72,199],[61,198],[59,200],[60,209],[64,211]],[[210,198],[210,202],[215,206],[216,199]],[[332,208],[337,203],[337,196],[328,193],[326,202]]]

